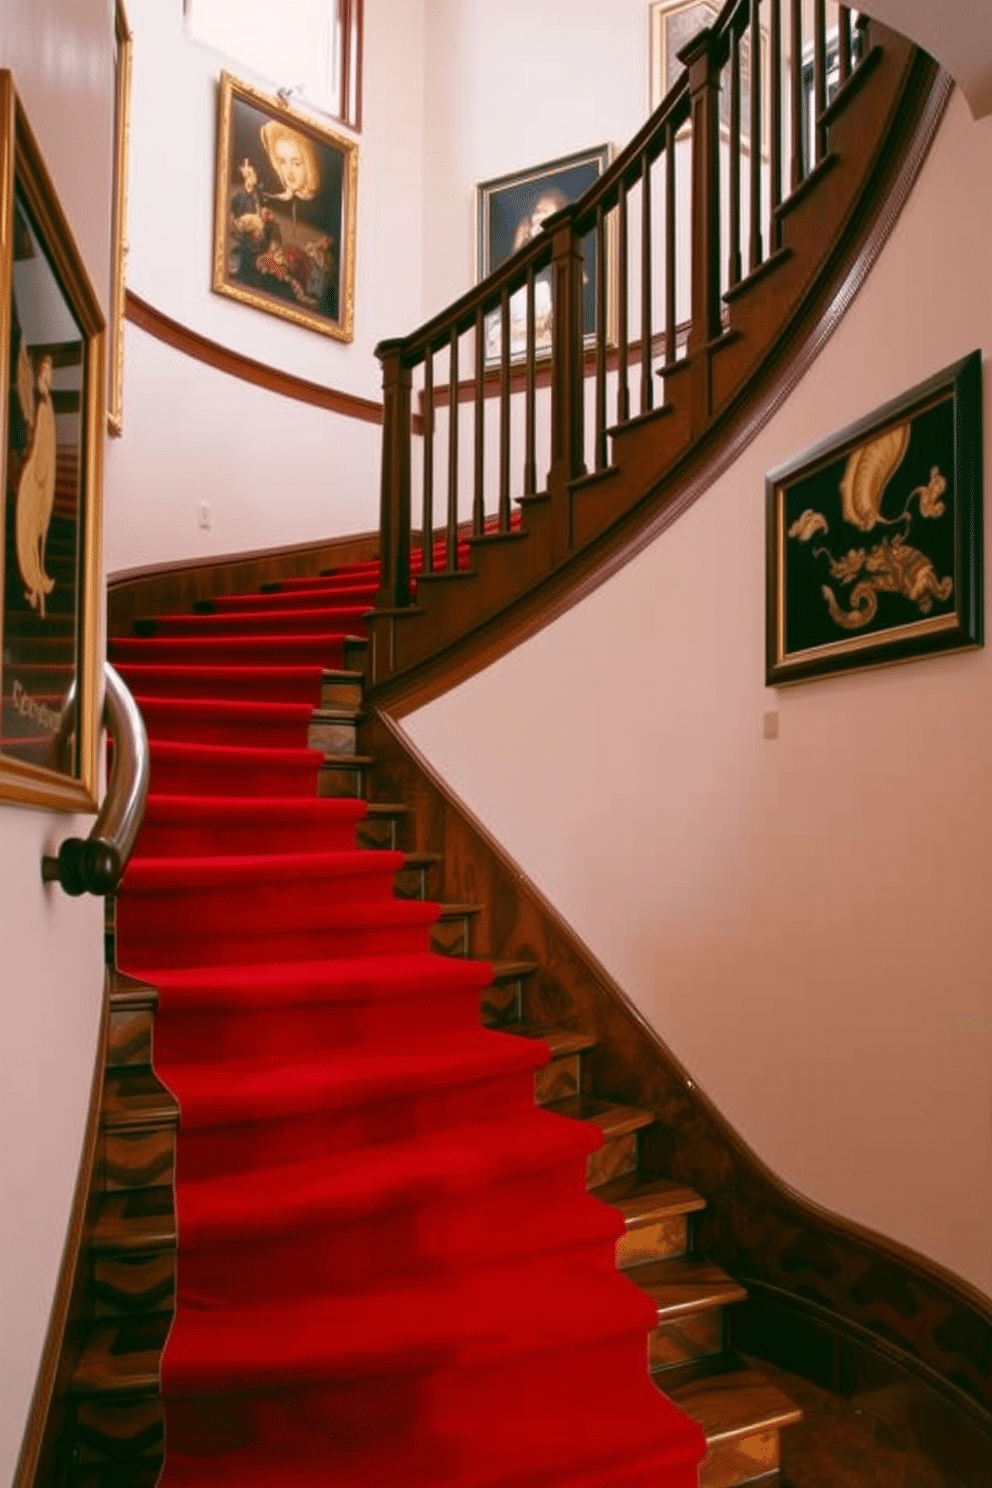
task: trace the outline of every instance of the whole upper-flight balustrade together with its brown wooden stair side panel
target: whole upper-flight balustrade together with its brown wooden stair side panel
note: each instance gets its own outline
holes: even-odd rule
[[[577,586],[587,591],[605,562],[616,567],[635,528],[657,528],[660,507],[681,509],[703,464],[724,446],[739,451],[741,426],[757,432],[760,411],[822,342],[819,327],[836,324],[854,266],[863,277],[880,250],[903,162],[913,158],[915,174],[946,91],[925,54],[864,16],[852,27],[846,6],[836,39],[825,0],[814,0],[812,39],[800,16],[799,0],[727,0],[680,54],[686,67],[668,97],[584,196],[446,311],[376,348],[382,579],[370,684],[379,696],[436,695],[445,677],[457,680],[455,652],[464,677],[476,670],[470,652],[485,665],[529,634],[538,613],[568,607]],[[763,70],[770,97],[761,70],[750,88],[742,71],[742,37],[757,57],[766,18],[776,48]],[[793,51],[802,67],[791,65]],[[677,189],[686,171],[689,199]],[[538,278],[552,311],[540,348]],[[486,417],[488,402],[498,403],[497,418]],[[418,533],[413,433],[424,436]],[[436,434],[446,451],[434,449]],[[546,473],[535,472],[535,452],[549,454]],[[507,545],[513,498],[522,519]],[[468,510],[479,546],[466,559],[449,540],[425,558],[430,582],[413,589],[416,543],[433,554],[439,533],[455,531]],[[455,604],[439,582],[466,562],[479,582],[460,585]]]

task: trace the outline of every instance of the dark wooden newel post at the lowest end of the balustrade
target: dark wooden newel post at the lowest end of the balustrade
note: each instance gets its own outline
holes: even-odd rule
[[[403,342],[381,341],[382,363],[382,493],[379,506],[378,610],[402,610],[410,603],[410,369]]]

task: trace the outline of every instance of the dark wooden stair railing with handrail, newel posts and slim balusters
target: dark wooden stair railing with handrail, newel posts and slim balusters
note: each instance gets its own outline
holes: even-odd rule
[[[864,21],[852,25],[849,6],[830,4],[828,31],[827,0],[814,0],[809,39],[802,12],[802,0],[727,0],[678,54],[683,73],[659,109],[584,196],[440,315],[376,347],[379,610],[412,604],[416,528],[419,573],[428,577],[463,565],[466,525],[476,540],[510,531],[515,463],[522,509],[552,503],[550,564],[567,557],[568,487],[589,469],[607,469],[611,432],[659,406],[656,378],[687,372],[692,436],[711,421],[709,363],[727,333],[726,295],[745,277],[745,262],[751,275],[779,251],[787,141],[794,193],[824,159],[828,91],[843,86],[861,55]],[[538,339],[535,308],[549,284],[550,348]],[[467,524],[463,491],[471,494]]]

